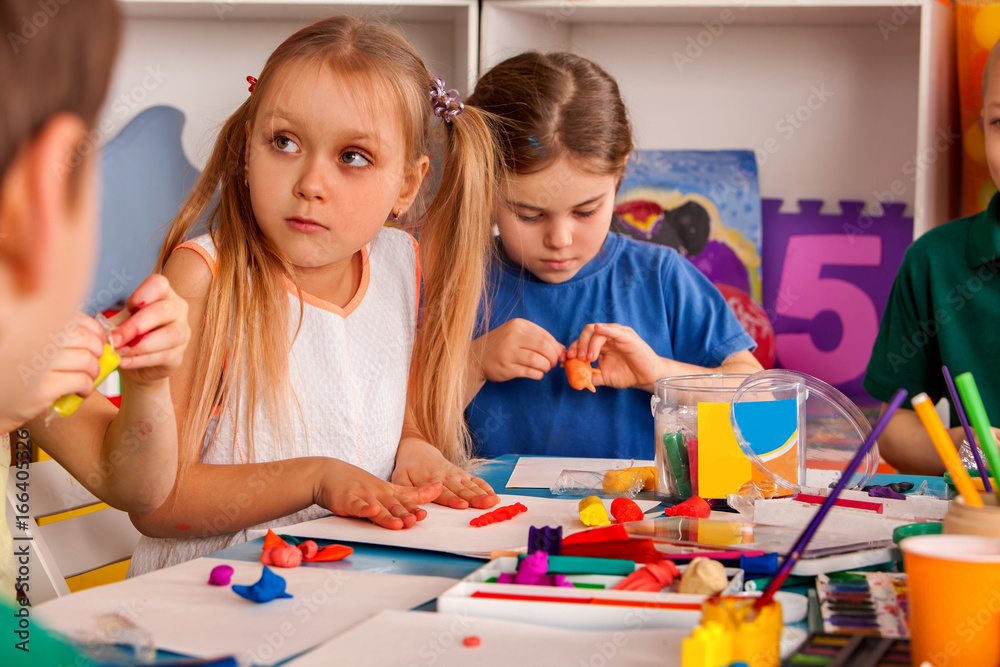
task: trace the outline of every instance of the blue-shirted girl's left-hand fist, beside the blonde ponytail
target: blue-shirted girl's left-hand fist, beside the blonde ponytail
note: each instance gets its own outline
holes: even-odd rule
[[[490,382],[519,377],[541,380],[565,358],[565,348],[552,334],[520,318],[504,322],[472,345],[473,354],[482,361],[483,375]]]

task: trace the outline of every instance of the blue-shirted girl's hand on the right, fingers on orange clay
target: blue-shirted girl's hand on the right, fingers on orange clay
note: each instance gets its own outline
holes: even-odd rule
[[[630,327],[588,324],[566,350],[567,359],[597,360],[594,385],[617,389],[652,385],[660,357]]]

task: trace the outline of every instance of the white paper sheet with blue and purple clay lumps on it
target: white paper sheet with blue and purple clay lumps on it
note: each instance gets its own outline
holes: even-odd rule
[[[153,636],[157,648],[198,658],[235,655],[240,664],[286,660],[335,637],[383,609],[410,609],[436,598],[455,579],[354,572],[331,567],[271,568],[294,597],[255,603],[229,586],[210,586],[217,565],[233,567],[234,584],[252,584],[260,563],[199,558],[39,605],[32,615],[80,641],[122,637],[98,627],[117,613]],[[349,663],[345,663],[349,664]]]

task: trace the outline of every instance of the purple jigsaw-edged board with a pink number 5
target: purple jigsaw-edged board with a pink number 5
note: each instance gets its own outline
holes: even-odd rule
[[[852,397],[861,386],[889,290],[913,240],[904,204],[883,215],[842,201],[839,214],[800,199],[782,213],[780,199],[762,200],[763,304],[774,326],[776,366],[814,375]]]

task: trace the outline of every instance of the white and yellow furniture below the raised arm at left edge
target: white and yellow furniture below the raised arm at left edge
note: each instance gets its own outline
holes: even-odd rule
[[[128,514],[100,502],[52,459],[32,463],[26,479],[23,470],[8,473],[7,523],[15,554],[25,545],[30,554],[31,603],[124,579],[140,537]],[[28,511],[18,511],[24,505]]]

